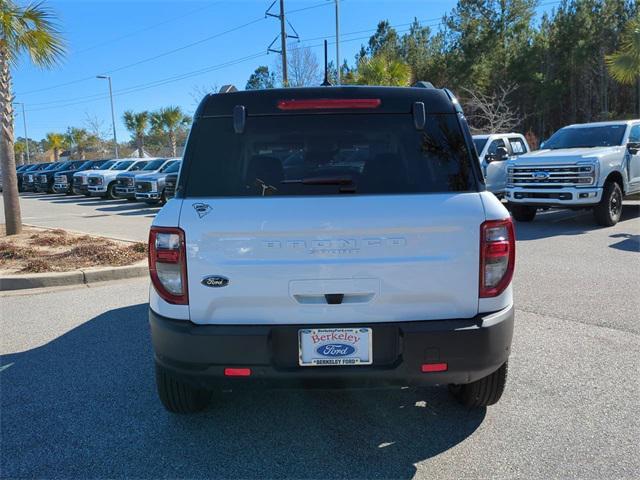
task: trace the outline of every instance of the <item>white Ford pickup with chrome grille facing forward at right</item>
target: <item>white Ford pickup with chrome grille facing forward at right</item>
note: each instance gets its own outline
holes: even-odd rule
[[[520,222],[539,207],[588,208],[612,226],[623,198],[640,193],[640,120],[570,125],[541,147],[508,164],[506,196]]]

